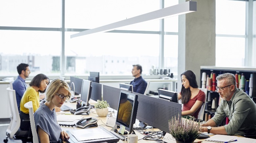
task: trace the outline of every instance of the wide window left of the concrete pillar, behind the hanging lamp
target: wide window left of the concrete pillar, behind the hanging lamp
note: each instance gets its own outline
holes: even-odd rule
[[[178,0],[164,2],[164,7],[178,4]],[[159,20],[70,38],[79,31],[158,10],[160,1],[65,0],[65,11],[61,10],[61,4],[61,0],[0,2],[1,75],[17,75],[19,63],[28,63],[32,76],[38,73],[84,75],[89,71],[98,71],[101,75],[131,75],[133,64],[142,65],[142,74],[149,74],[152,66],[177,72],[177,54],[173,53],[178,50],[178,16],[164,22],[167,31],[164,38],[166,62],[161,61],[164,67],[159,67]],[[62,21],[62,13],[65,13],[65,21]],[[62,28],[65,28],[64,45]],[[63,50],[64,68],[61,66]]]

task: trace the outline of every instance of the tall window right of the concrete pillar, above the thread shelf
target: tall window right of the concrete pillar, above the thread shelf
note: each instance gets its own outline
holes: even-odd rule
[[[254,36],[250,33],[255,29],[253,3],[250,7],[252,0],[216,0],[216,66],[256,66],[255,30]]]

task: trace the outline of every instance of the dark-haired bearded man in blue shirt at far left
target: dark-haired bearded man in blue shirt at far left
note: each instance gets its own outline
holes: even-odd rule
[[[19,75],[12,83],[12,87],[13,90],[15,90],[18,110],[20,111],[20,100],[27,89],[25,79],[29,77],[30,74],[29,65],[21,63],[17,66],[17,71]]]

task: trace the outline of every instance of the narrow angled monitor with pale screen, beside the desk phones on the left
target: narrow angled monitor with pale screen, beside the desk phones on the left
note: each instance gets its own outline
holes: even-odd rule
[[[91,81],[83,79],[81,97],[80,97],[80,100],[82,100],[82,106],[89,106],[91,93],[92,93]]]

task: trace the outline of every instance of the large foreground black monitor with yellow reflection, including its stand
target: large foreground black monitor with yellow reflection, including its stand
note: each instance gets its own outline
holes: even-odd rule
[[[133,124],[136,121],[138,109],[138,95],[127,91],[120,91],[116,125],[111,129],[114,131],[117,126],[124,126],[125,130],[131,134],[133,132]],[[111,132],[117,135],[120,139],[124,139],[125,136]]]

